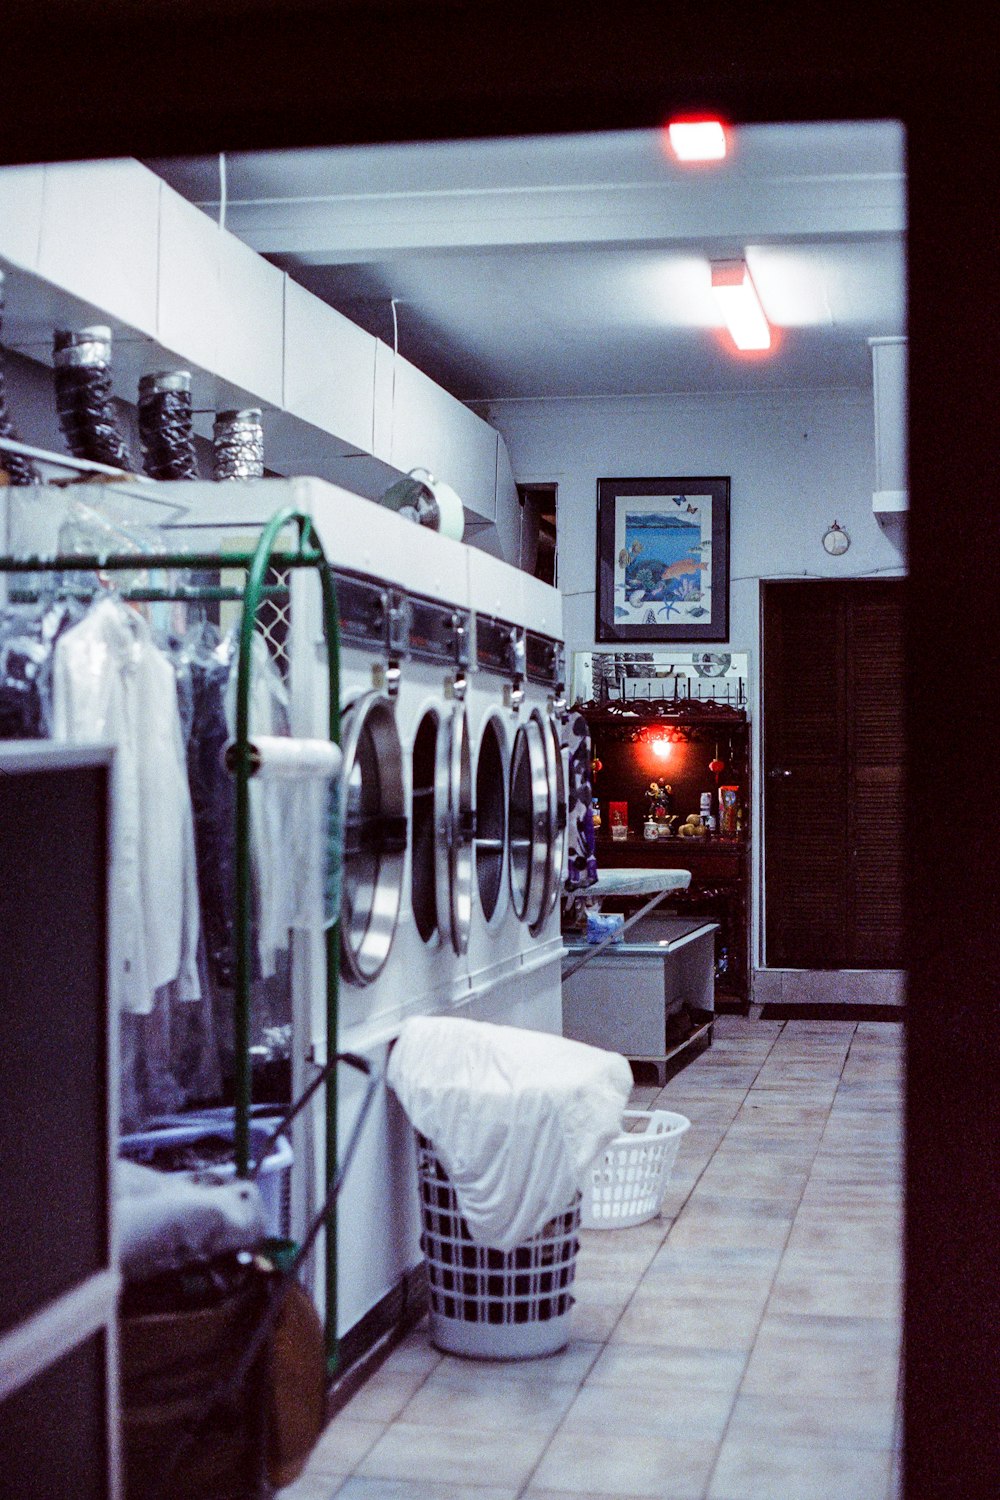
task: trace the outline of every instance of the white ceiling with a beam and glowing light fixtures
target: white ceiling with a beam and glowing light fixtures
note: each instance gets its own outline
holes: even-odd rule
[[[219,212],[217,158],[151,162]],[[226,226],[462,400],[870,386],[906,332],[901,126],[745,126],[226,156]],[[777,330],[736,356],[709,260]]]

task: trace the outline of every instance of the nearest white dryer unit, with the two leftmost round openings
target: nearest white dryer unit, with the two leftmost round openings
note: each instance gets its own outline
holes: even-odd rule
[[[472,766],[466,549],[322,486],[342,630],[342,1044],[468,990]],[[376,572],[378,570],[378,572]]]

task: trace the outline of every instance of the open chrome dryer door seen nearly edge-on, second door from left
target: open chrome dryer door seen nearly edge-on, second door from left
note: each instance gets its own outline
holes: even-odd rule
[[[438,729],[435,774],[435,843],[438,926],[456,954],[469,946],[472,926],[472,752],[465,708],[457,706]]]

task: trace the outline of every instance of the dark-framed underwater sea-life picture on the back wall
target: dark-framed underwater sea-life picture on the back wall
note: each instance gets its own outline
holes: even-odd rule
[[[595,639],[729,639],[729,478],[598,478]]]

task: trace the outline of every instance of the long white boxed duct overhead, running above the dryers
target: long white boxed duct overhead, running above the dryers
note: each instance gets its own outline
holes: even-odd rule
[[[121,399],[190,369],[195,406],[264,408],[268,468],[372,498],[430,470],[498,548],[496,430],[139,162],[0,170],[0,262],[4,342],[28,357],[51,364],[54,327],[106,322]]]

